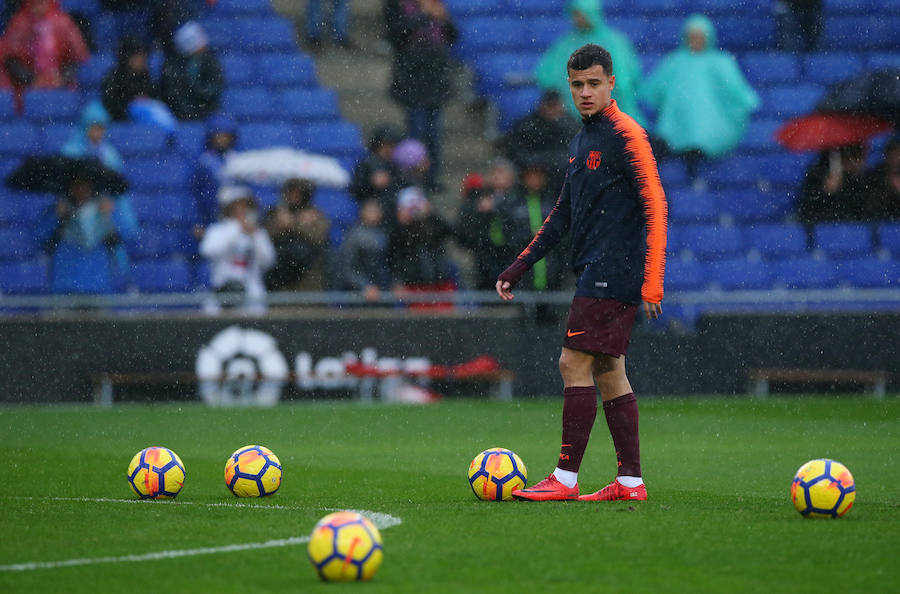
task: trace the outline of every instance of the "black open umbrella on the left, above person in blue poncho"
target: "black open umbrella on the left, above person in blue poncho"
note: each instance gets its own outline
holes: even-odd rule
[[[125,178],[97,159],[62,155],[26,157],[6,178],[6,185],[26,192],[63,194],[73,179],[90,180],[96,192],[122,194],[128,191]]]

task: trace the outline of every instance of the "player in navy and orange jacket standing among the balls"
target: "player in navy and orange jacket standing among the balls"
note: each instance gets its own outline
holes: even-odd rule
[[[610,96],[612,58],[588,44],[567,64],[572,100],[582,117],[569,144],[566,180],[556,206],[497,280],[509,301],[522,276],[570,233],[578,277],[559,369],[564,383],[559,462],[546,479],[513,491],[529,501],[646,499],[641,476],[638,408],[625,353],[638,306],[647,319],[662,313],[666,197],[647,134]],[[596,493],[578,491],[578,468],[597,415],[597,393],[618,460],[616,479]]]

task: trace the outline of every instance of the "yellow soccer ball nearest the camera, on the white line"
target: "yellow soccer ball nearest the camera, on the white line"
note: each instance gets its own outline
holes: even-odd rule
[[[368,518],[352,511],[319,520],[309,537],[309,561],[327,582],[368,580],[384,558],[381,533]]]

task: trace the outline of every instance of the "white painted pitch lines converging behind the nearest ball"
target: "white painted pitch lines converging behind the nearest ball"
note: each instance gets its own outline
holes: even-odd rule
[[[15,499],[43,499],[49,501],[80,501],[85,503],[153,503],[140,499],[106,499],[106,498],[88,498],[88,497],[15,497]],[[299,506],[285,505],[260,505],[260,504],[239,504],[239,503],[196,503],[193,501],[167,501],[166,505],[203,505],[207,507],[233,507],[233,508],[251,508],[251,509],[282,509],[282,510],[308,510],[309,508]],[[326,508],[326,511],[341,511],[333,508]],[[403,522],[400,518],[381,512],[373,512],[369,510],[345,510],[360,513],[375,524],[379,529],[384,530],[391,526],[397,526]],[[82,559],[66,559],[63,561],[35,561],[31,563],[14,563],[12,565],[0,565],[0,571],[33,571],[36,569],[56,569],[60,567],[76,567],[79,565],[98,565],[101,563],[135,563],[140,561],[159,561],[163,559],[177,559],[179,557],[194,557],[196,555],[213,555],[216,553],[235,553],[239,551],[252,551],[257,549],[270,549],[274,547],[287,547],[309,542],[308,536],[292,536],[290,538],[279,538],[267,540],[265,542],[248,542],[244,544],[224,545],[221,547],[201,547],[198,549],[176,549],[171,551],[156,551],[153,553],[144,553],[142,555],[121,555],[118,557],[92,557]]]

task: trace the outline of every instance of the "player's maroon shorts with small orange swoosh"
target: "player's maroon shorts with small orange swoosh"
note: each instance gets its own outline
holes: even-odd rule
[[[563,346],[613,357],[624,355],[637,307],[616,299],[573,298]]]

